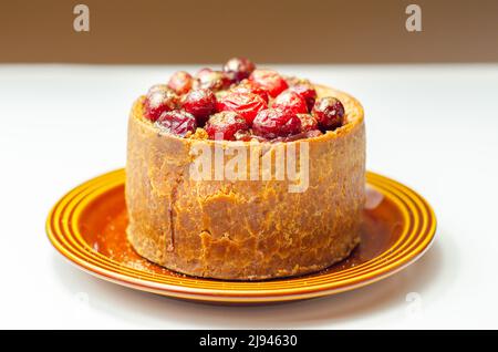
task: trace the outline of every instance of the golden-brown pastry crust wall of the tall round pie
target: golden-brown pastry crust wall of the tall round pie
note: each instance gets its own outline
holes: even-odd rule
[[[364,203],[363,108],[343,92],[315,87],[319,97],[341,100],[347,123],[287,143],[162,134],[143,118],[138,100],[128,122],[126,164],[127,235],[135,250],[175,271],[229,280],[303,275],[347,257],[360,240]],[[290,193],[287,180],[195,180],[189,174],[198,144],[226,152],[251,145],[252,153],[256,145],[259,156],[274,156],[302,143],[309,145],[303,193]]]

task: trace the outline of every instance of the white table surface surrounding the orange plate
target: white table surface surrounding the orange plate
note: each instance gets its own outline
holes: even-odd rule
[[[184,302],[82,272],[50,245],[46,214],[124,165],[133,100],[178,68],[0,65],[0,328],[498,328],[498,65],[276,68],[363,103],[369,169],[436,210],[419,261],[352,292],[267,307]]]

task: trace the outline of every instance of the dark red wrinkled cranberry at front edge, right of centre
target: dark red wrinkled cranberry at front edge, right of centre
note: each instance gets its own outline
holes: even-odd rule
[[[298,116],[281,110],[267,108],[258,113],[252,122],[252,132],[261,137],[287,137],[301,132]]]

